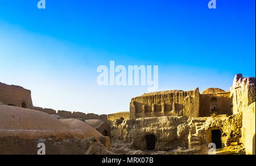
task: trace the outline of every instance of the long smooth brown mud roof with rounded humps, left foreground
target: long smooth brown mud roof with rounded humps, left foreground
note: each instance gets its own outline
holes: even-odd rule
[[[93,136],[108,149],[109,137],[78,119],[57,119],[52,115],[21,107],[0,105],[0,137],[22,139],[72,139]]]

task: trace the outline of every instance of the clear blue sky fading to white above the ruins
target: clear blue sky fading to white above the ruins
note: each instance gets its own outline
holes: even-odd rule
[[[98,86],[96,69],[159,65],[158,90],[229,90],[255,77],[255,1],[0,0],[0,82],[34,106],[109,114],[147,86]]]

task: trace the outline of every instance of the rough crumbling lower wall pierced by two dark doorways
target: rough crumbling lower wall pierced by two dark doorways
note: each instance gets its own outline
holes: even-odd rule
[[[208,144],[212,142],[211,131],[217,129],[221,131],[223,147],[230,146],[230,142],[241,142],[241,114],[202,118],[176,116],[138,118],[127,119],[121,124],[115,124],[113,123],[111,130],[111,140],[131,143],[131,146],[138,150],[146,150],[146,135],[154,135],[156,138],[155,150],[172,150],[177,147],[191,148],[189,139],[193,137],[198,140],[199,151],[197,152],[200,152],[203,151],[201,146],[208,147]]]

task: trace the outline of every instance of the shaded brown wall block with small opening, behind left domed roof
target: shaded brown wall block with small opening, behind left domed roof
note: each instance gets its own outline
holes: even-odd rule
[[[0,82],[0,101],[5,105],[22,107],[26,103],[28,109],[33,109],[31,91],[21,86],[6,85]]]

